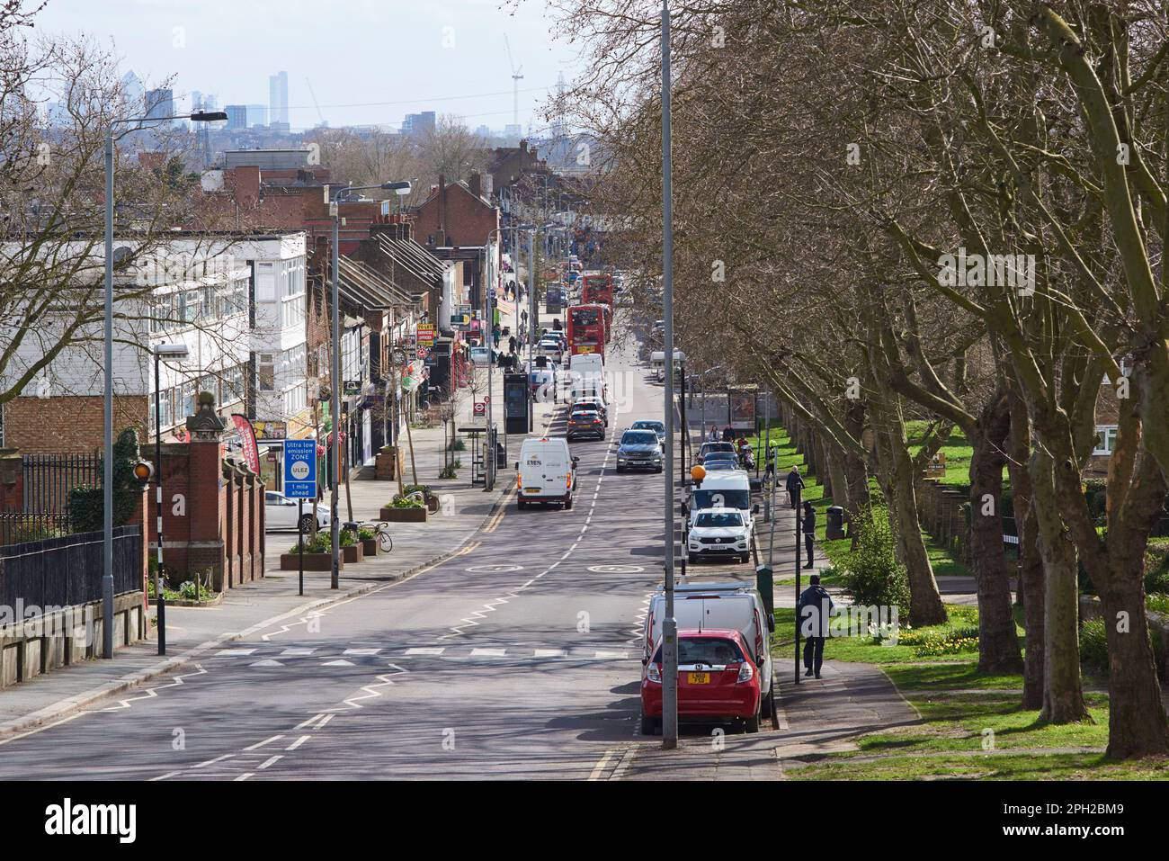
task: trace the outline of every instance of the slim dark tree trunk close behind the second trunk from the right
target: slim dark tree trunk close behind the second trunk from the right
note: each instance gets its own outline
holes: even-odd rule
[[[1032,504],[1031,420],[1026,404],[1015,393],[1011,401],[1010,457],[1007,470],[1011,476],[1011,500],[1015,505],[1015,529],[1019,536],[1018,593],[1023,602],[1025,627],[1023,662],[1023,708],[1042,709],[1044,691],[1044,583],[1043,560],[1039,558],[1035,505]]]

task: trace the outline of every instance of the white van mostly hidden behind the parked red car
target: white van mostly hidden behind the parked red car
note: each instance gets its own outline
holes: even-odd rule
[[[662,620],[665,618],[665,591],[657,590],[650,597],[645,629],[642,634],[642,663],[649,662],[653,648],[662,638]],[[741,583],[704,583],[675,586],[673,618],[678,631],[727,629],[742,634],[743,642],[752,650],[752,657],[760,668],[760,691],[762,693],[763,717],[772,716],[772,649],[769,634],[775,631],[775,618],[768,615],[763,597],[753,586]]]

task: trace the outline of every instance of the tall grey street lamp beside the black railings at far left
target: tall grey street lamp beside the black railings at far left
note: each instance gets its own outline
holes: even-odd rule
[[[102,427],[102,657],[113,657],[113,126],[123,123],[150,123],[189,119],[214,123],[227,119],[223,111],[195,111],[173,117],[132,117],[111,119],[105,130],[105,385]]]

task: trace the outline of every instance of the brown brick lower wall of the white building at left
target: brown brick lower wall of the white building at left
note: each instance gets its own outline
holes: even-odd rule
[[[4,405],[5,445],[23,454],[81,454],[102,448],[101,395],[13,398]],[[148,398],[113,399],[113,439],[127,427],[147,439]]]

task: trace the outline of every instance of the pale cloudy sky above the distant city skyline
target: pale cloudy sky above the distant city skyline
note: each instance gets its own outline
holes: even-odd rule
[[[49,0],[42,35],[82,33],[111,46],[147,89],[174,76],[175,108],[193,90],[226,104],[268,104],[268,77],[289,74],[289,122],[397,128],[426,110],[472,130],[512,122],[512,67],[524,75],[519,119],[538,110],[556,76],[572,80],[575,46],[555,43],[544,0]]]

